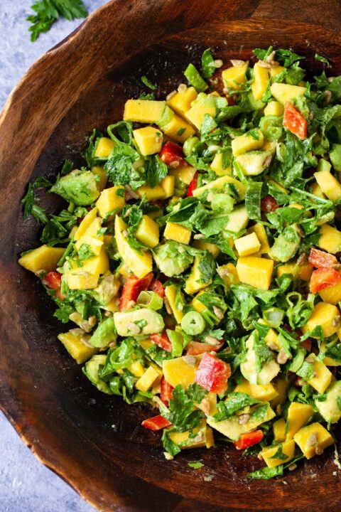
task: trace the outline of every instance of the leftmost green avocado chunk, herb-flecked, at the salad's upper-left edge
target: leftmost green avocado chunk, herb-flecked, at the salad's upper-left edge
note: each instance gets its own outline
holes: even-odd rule
[[[66,201],[75,203],[77,206],[90,205],[99,196],[94,174],[91,171],[80,171],[79,169],[59,178],[50,188],[50,192],[57,193]]]

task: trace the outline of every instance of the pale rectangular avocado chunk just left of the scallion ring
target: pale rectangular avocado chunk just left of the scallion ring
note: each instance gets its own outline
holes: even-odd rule
[[[114,323],[119,336],[146,336],[159,333],[165,327],[161,314],[148,308],[117,311]]]

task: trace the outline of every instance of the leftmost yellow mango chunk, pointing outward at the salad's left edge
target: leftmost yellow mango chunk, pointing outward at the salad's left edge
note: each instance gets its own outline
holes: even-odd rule
[[[31,270],[31,272],[52,272],[56,269],[58,261],[65,252],[64,247],[48,247],[48,245],[41,245],[36,249],[26,252],[18,260],[21,267]]]

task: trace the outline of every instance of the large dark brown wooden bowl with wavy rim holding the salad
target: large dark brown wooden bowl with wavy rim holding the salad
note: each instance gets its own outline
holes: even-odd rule
[[[13,90],[0,125],[0,396],[22,439],[50,469],[101,511],[341,510],[340,472],[330,451],[272,481],[247,479],[261,466],[229,445],[163,457],[158,434],[140,427],[146,408],[99,393],[56,339],[61,326],[38,279],[17,265],[38,245],[19,201],[28,181],[54,176],[93,127],[121,119],[141,75],[173,89],[185,64],[211,46],[223,58],[293,47],[320,71],[315,51],[341,70],[337,0],[121,0],[90,16],[43,55]],[[42,198],[50,211],[55,198]],[[188,462],[201,459],[201,469]]]

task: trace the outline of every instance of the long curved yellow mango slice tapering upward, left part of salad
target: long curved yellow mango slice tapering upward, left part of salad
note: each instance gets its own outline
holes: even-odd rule
[[[124,235],[125,230],[126,223],[117,215],[115,218],[115,238],[119,255],[131,272],[134,272],[137,277],[144,277],[153,268],[151,253],[138,252],[130,247],[126,235]]]

